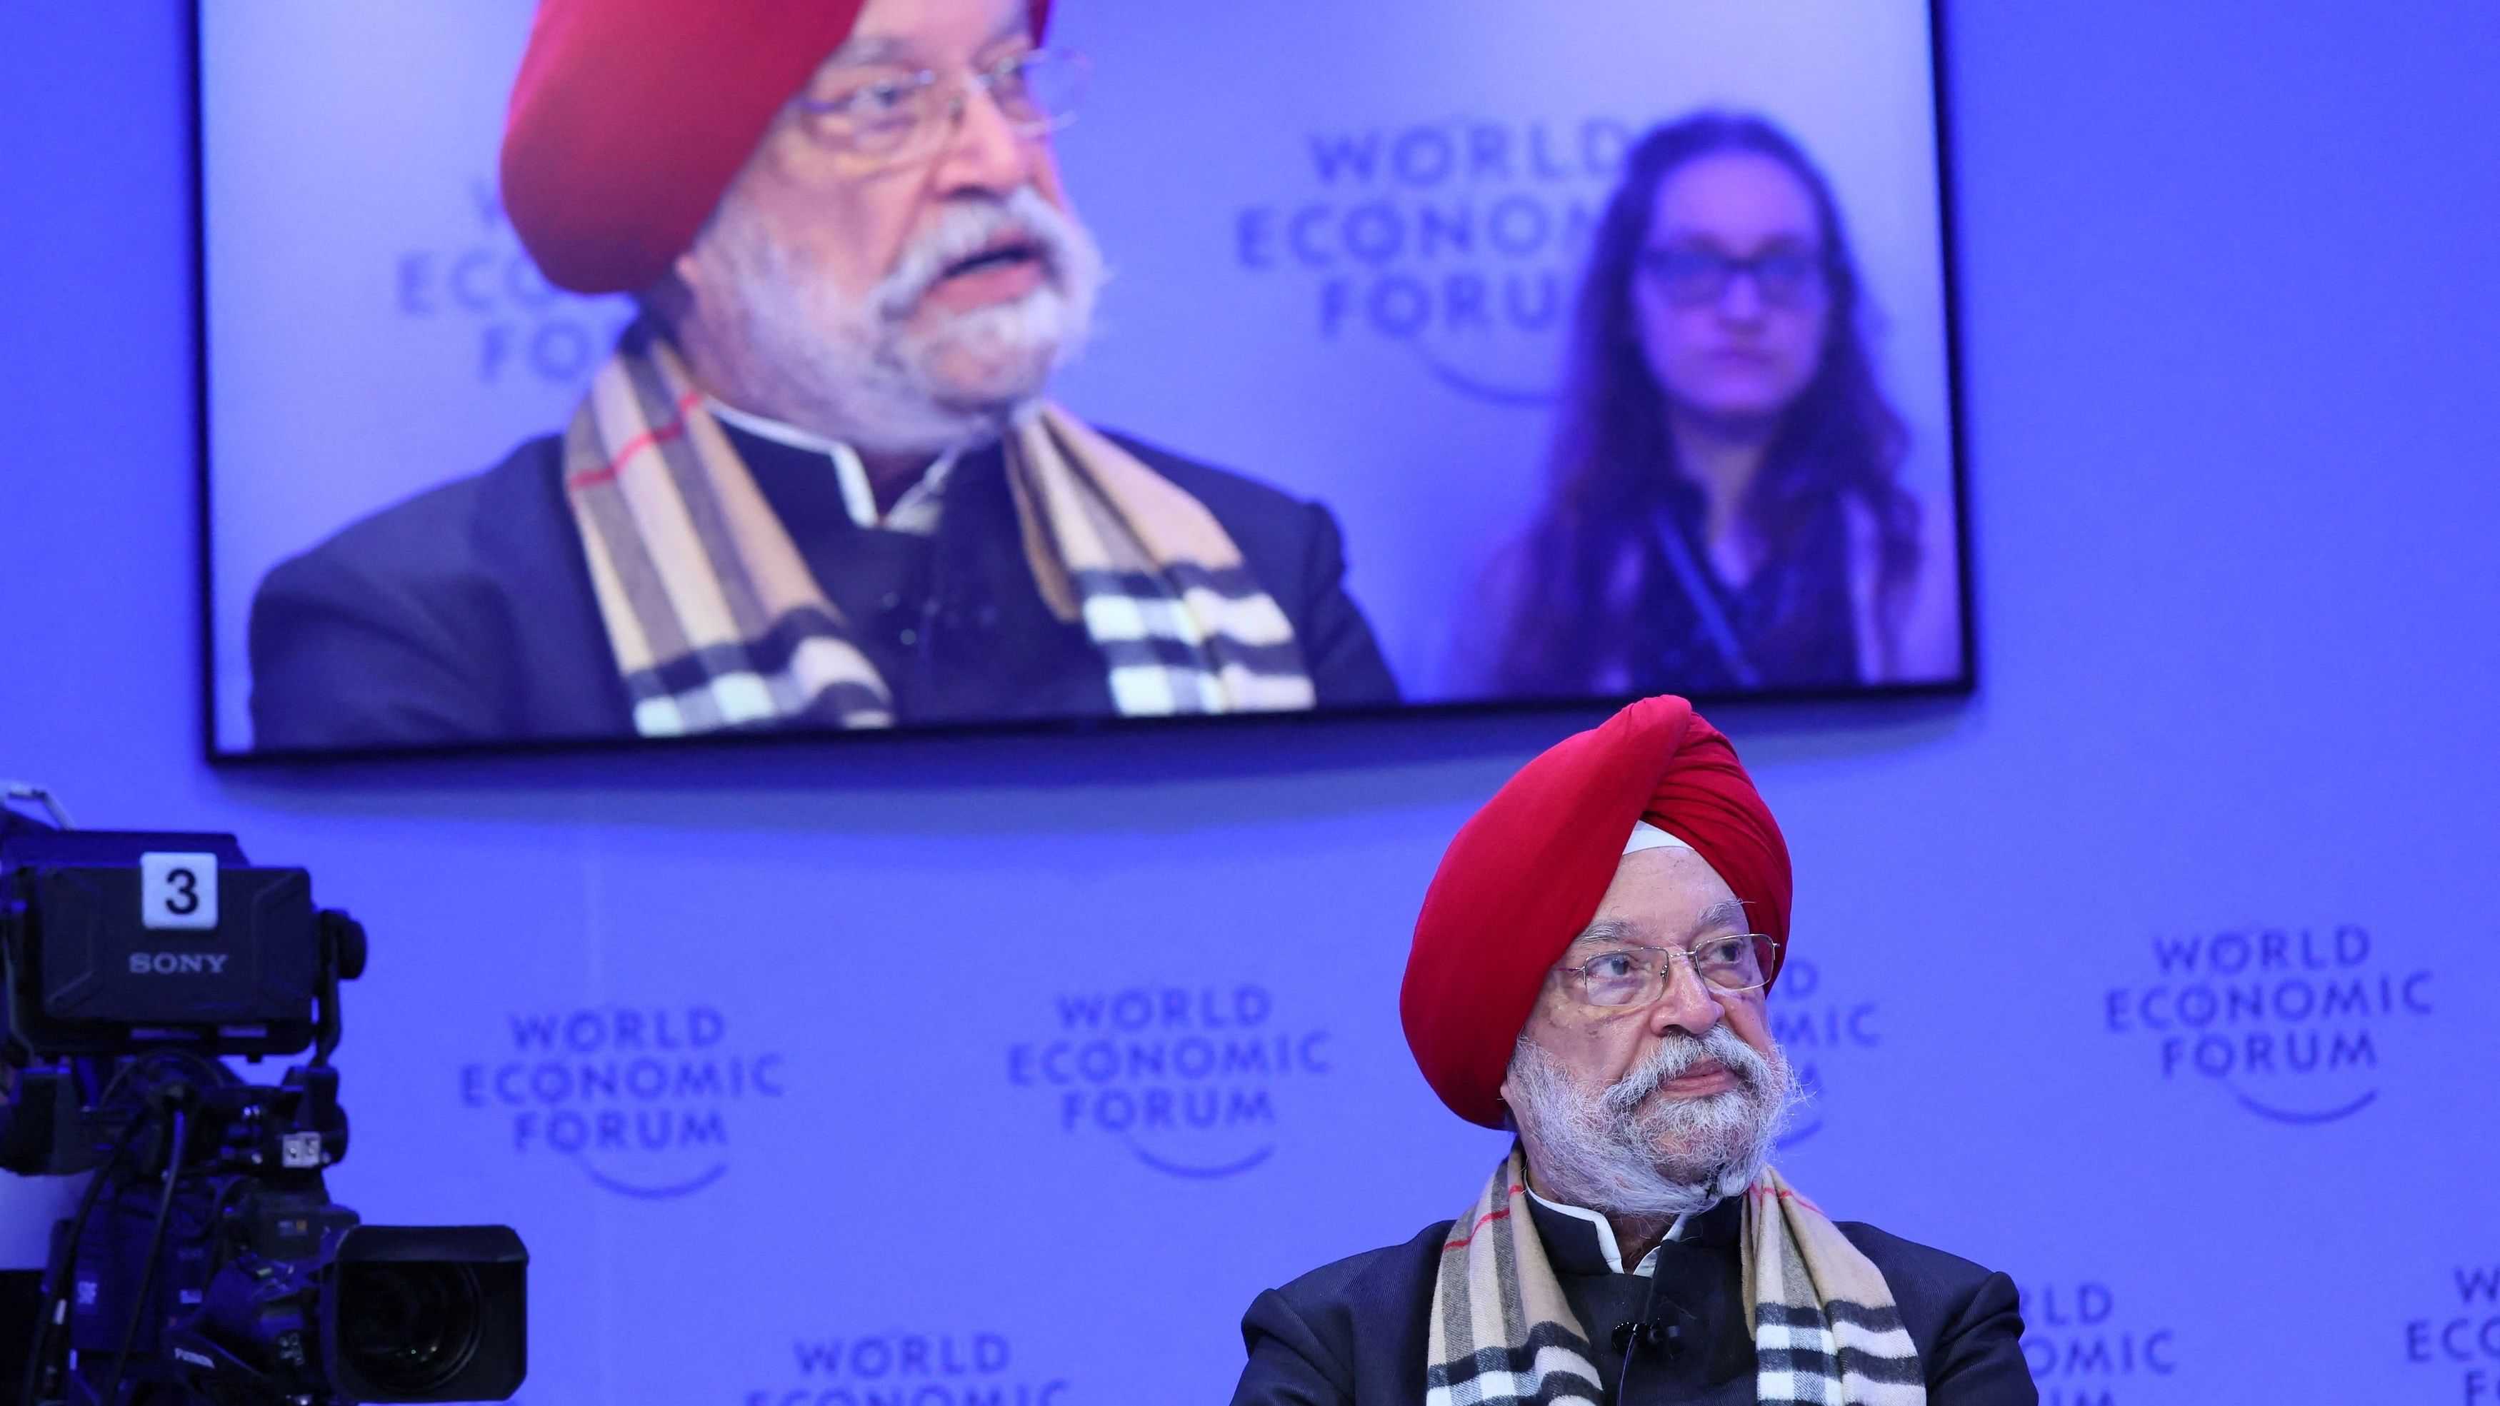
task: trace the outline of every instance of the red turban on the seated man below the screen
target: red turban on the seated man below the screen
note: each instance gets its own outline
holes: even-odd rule
[[[1788,842],[1735,747],[1692,704],[1642,699],[1565,737],[1460,827],[1415,919],[1398,999],[1408,1046],[1470,1124],[1502,1126],[1520,1026],[1598,917],[1640,819],[1708,859],[1755,932],[1788,937]]]

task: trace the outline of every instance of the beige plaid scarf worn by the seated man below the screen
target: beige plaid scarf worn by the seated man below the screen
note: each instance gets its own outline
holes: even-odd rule
[[[1432,1286],[1425,1406],[1600,1404],[1588,1334],[1528,1211],[1520,1149],[1450,1226]],[[1745,1189],[1745,1324],[1755,1401],[1925,1406],[1892,1291],[1822,1211],[1770,1169]]]

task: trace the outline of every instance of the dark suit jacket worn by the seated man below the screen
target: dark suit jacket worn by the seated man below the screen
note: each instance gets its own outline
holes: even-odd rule
[[[1598,1339],[1608,1399],[1622,1406],[1668,1401],[1752,1401],[1755,1356],[1745,1334],[1742,1204],[1730,1199],[1692,1216],[1685,1236],[1658,1246],[1650,1279],[1615,1274],[1588,1221],[1532,1206],[1545,1256],[1572,1314]],[[1968,1259],[1840,1221],[1900,1306],[1902,1326],[1928,1369],[1932,1406],[2035,1406],[2022,1361],[2015,1284]],[[1232,1406],[1415,1406],[1425,1399],[1425,1344],[1432,1284],[1450,1221],[1400,1246],[1315,1269],[1250,1304],[1242,1369]],[[1630,1394],[1615,1324],[1658,1321],[1675,1341],[1630,1346]]]

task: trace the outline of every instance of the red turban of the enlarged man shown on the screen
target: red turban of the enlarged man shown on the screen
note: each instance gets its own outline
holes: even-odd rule
[[[1025,0],[1032,35],[1050,0]],[[650,287],[865,0],[542,0],[502,127],[502,207],[572,292]]]

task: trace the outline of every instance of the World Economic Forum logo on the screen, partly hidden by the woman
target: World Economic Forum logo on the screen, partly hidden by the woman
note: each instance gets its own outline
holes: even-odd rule
[[[1298,180],[1232,215],[1232,262],[1322,345],[1405,347],[1448,390],[1555,395],[1580,260],[1638,122],[1450,117],[1305,132]]]

